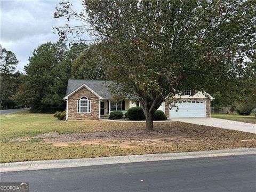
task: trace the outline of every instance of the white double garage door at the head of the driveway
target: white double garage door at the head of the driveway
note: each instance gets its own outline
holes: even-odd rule
[[[205,101],[179,101],[179,107],[170,109],[170,118],[173,117],[206,117]]]

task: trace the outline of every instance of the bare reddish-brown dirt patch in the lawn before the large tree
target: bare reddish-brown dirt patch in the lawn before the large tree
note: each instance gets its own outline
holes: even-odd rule
[[[103,145],[121,148],[149,145],[168,146],[172,141],[186,140],[185,134],[177,130],[158,130],[154,132],[122,130],[69,134],[50,132],[38,134],[35,137],[19,138],[15,141],[28,141],[33,139],[42,139],[42,142],[52,143],[56,147],[67,147],[76,143],[78,145]]]

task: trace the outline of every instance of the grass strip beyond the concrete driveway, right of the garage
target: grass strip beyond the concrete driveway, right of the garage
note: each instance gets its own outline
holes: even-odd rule
[[[254,114],[251,114],[251,115],[211,114],[211,117],[256,124],[256,117],[254,116]]]

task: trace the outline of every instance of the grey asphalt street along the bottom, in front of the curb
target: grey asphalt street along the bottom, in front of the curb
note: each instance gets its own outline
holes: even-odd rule
[[[29,191],[256,191],[256,155],[6,172]]]

